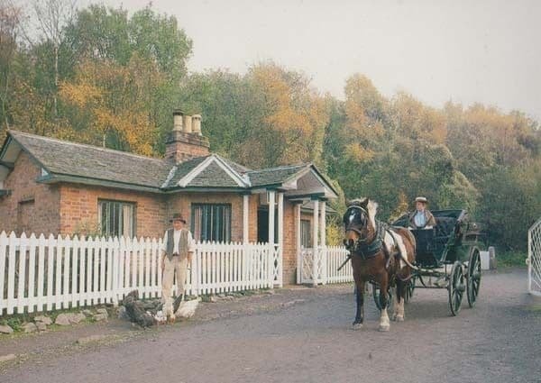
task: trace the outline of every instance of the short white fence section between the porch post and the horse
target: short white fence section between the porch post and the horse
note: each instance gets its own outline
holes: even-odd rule
[[[314,249],[301,248],[298,256],[301,284],[326,284],[353,282],[353,270],[351,265],[345,265],[338,270],[340,265],[347,259],[347,251],[343,246],[318,246]],[[316,260],[316,264],[314,264]],[[316,275],[316,281],[314,281]]]

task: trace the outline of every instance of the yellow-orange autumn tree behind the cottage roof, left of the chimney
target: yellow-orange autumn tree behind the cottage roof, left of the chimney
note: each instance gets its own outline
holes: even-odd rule
[[[87,60],[74,81],[61,84],[62,100],[72,106],[63,138],[78,137],[95,145],[155,154],[156,122],[152,119],[153,89],[163,82],[148,59],[133,55],[127,66]]]

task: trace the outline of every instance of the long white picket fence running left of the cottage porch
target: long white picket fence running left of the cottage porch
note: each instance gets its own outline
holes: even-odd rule
[[[0,233],[0,316],[15,310],[20,314],[116,304],[133,289],[143,298],[159,297],[161,243],[149,238],[19,238]],[[280,270],[280,249],[268,243],[197,243],[186,292],[280,286]]]

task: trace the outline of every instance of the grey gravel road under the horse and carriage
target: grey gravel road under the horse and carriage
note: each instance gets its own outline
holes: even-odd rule
[[[231,315],[15,365],[0,382],[541,382],[541,302],[525,288],[525,270],[486,274],[457,317],[446,290],[416,290],[389,333],[371,300],[351,330],[351,285],[284,289]]]

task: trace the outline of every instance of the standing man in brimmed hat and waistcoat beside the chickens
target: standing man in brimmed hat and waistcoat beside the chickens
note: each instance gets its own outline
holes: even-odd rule
[[[175,271],[177,272],[177,296],[184,293],[186,272],[191,264],[195,243],[192,234],[185,228],[186,220],[181,214],[173,214],[173,228],[165,232],[161,247],[161,297],[164,302],[171,296]]]

